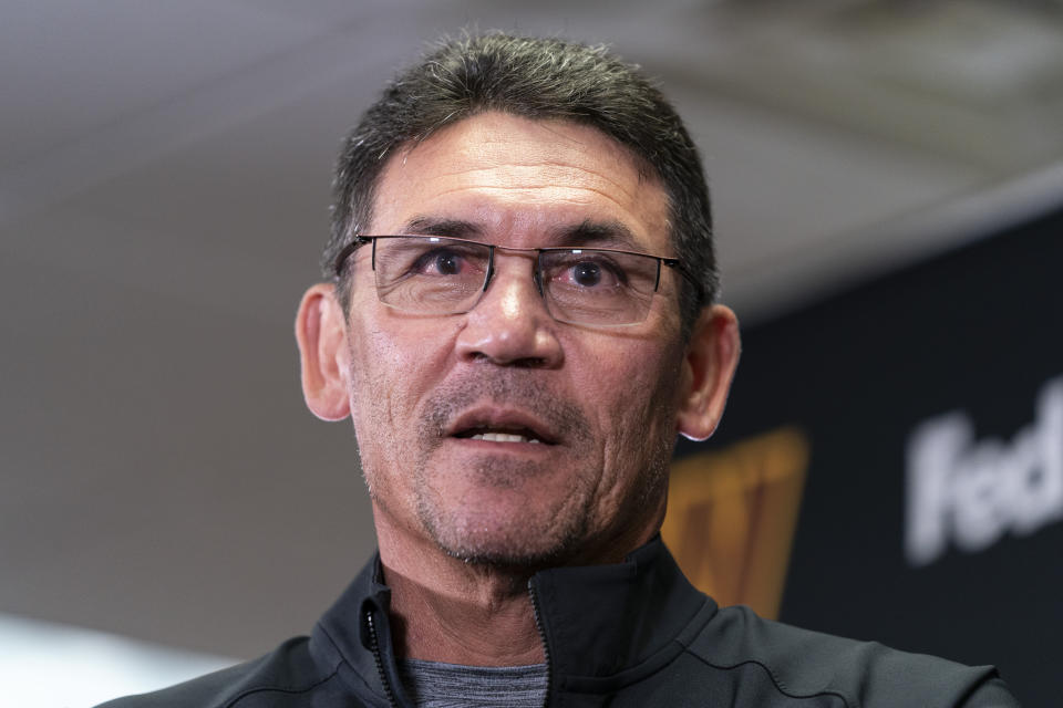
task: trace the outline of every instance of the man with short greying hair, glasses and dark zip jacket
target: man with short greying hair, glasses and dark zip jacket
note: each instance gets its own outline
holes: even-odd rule
[[[1013,706],[967,668],[719,608],[662,545],[739,357],[679,117],[601,50],[446,44],[350,135],[307,405],[380,544],[314,628],[114,707]]]

